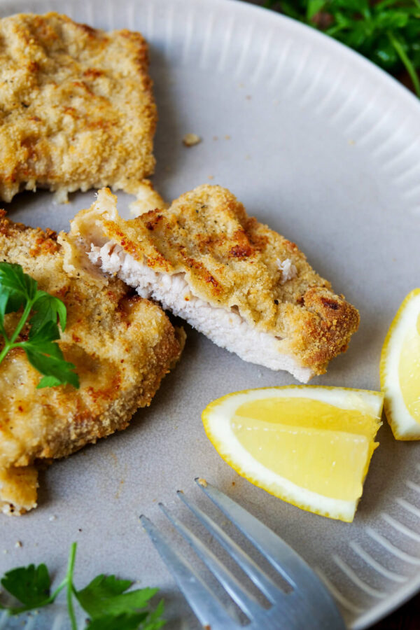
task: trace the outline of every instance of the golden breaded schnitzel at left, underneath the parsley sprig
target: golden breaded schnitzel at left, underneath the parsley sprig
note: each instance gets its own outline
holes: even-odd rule
[[[67,325],[58,343],[80,379],[79,389],[36,389],[41,374],[21,348],[0,363],[0,510],[6,514],[36,507],[34,464],[126,428],[134,412],[151,403],[181,354],[183,332],[158,304],[116,278],[104,283],[98,274],[67,265],[71,257],[69,245],[64,249],[54,232],[0,217],[0,260],[22,265],[39,289],[66,304]],[[20,315],[5,316],[9,337]],[[27,334],[24,328],[21,340]],[[0,351],[3,345],[0,336]]]

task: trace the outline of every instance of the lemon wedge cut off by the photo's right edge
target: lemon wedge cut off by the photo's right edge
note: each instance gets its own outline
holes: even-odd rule
[[[397,440],[420,440],[420,289],[407,295],[381,353],[385,414]]]

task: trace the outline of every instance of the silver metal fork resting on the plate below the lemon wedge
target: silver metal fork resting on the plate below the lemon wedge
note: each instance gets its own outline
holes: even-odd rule
[[[230,519],[255,545],[260,554],[283,577],[283,580],[288,582],[291,589],[289,592],[281,590],[213,519],[200,510],[200,507],[191,503],[182,491],[178,491],[177,494],[183,503],[244,570],[244,573],[271,604],[268,609],[263,608],[253,594],[239,583],[235,575],[221,563],[200,538],[197,538],[197,535],[168,512],[165,505],[159,503],[162,512],[193,547],[249,620],[244,626],[238,618],[232,617],[220,599],[195,573],[190,563],[173,549],[158,528],[142,514],[141,524],[204,628],[211,628],[211,630],[239,630],[240,628],[246,628],[246,630],[345,630],[342,616],[328,589],[284,540],[204,479],[195,479],[195,482],[225,514],[225,517]]]

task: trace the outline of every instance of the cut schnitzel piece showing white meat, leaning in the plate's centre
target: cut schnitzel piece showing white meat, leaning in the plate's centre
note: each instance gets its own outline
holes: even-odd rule
[[[220,186],[199,186],[131,221],[100,190],[67,238],[219,346],[302,382],[323,374],[358,328],[358,311],[297,245],[248,217]]]

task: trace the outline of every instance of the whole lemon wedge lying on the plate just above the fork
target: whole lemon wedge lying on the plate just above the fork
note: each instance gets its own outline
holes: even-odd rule
[[[202,420],[239,475],[303,510],[351,522],[383,398],[338,387],[249,389],[214,400]]]

